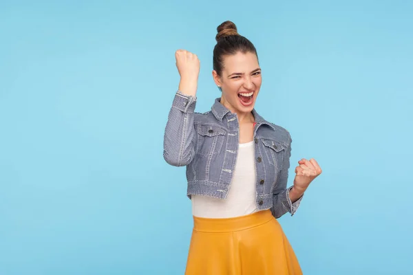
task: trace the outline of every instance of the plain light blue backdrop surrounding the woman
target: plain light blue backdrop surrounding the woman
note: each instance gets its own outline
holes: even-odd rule
[[[412,1],[1,1],[0,274],[183,274],[184,168],[162,157],[174,52],[220,96],[216,27],[257,47],[256,108],[323,173],[279,219],[304,274],[413,274]]]

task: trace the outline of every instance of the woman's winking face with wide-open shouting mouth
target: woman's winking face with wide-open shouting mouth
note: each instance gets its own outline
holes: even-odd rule
[[[238,52],[224,57],[222,76],[213,71],[215,84],[222,88],[221,103],[233,113],[247,113],[254,108],[261,87],[261,69],[257,56]]]

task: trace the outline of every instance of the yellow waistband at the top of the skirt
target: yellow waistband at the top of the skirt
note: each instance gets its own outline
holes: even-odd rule
[[[271,210],[257,211],[240,217],[212,219],[193,216],[193,230],[200,232],[233,232],[253,228],[273,219]]]

